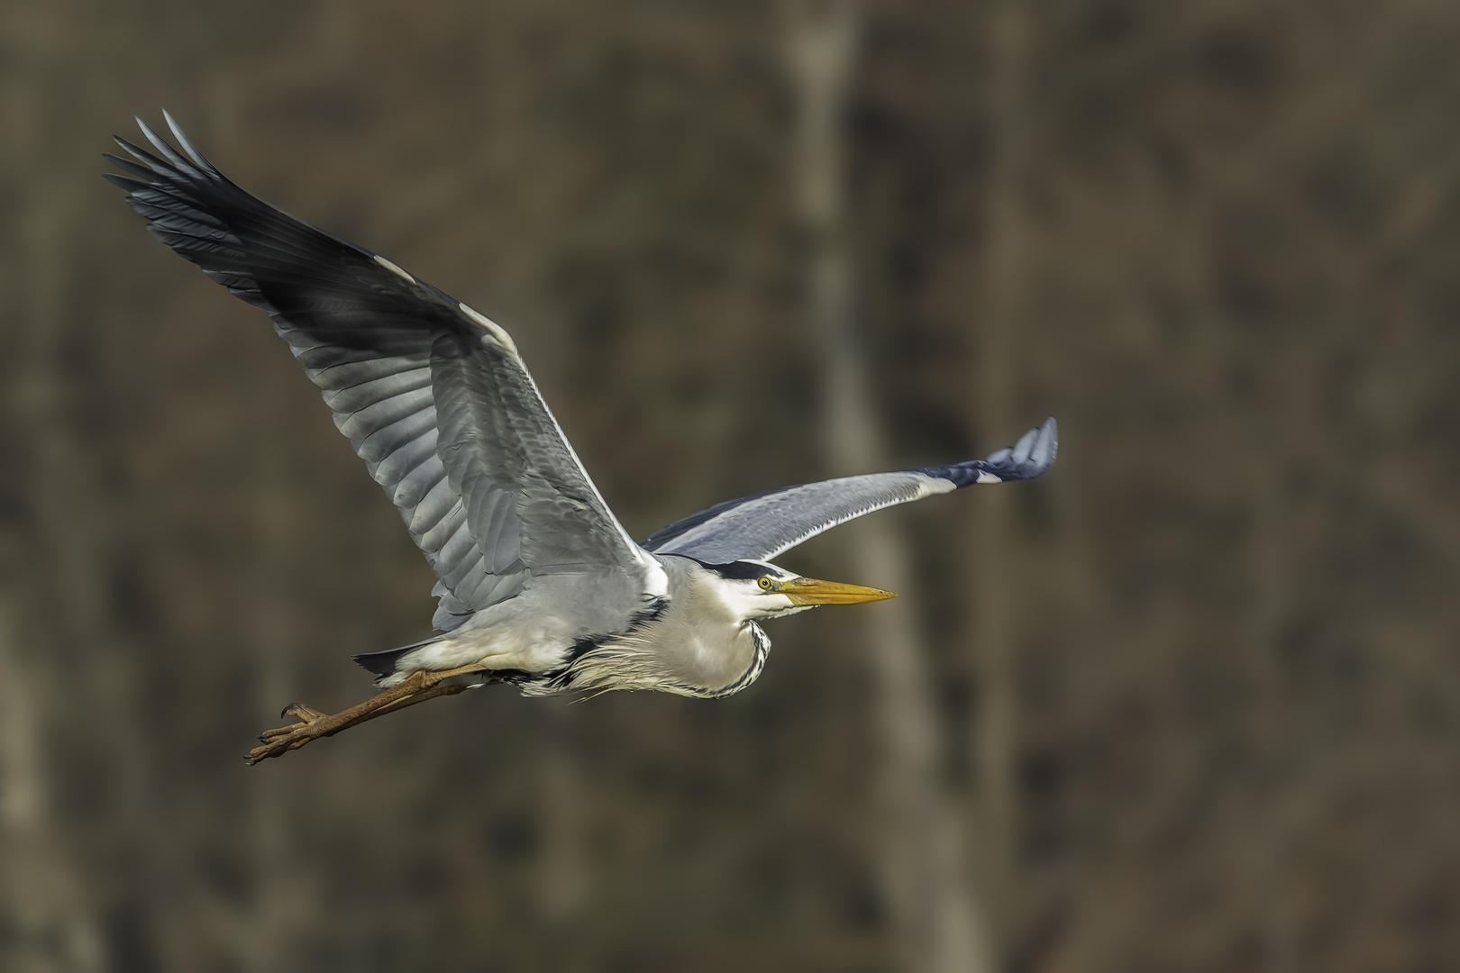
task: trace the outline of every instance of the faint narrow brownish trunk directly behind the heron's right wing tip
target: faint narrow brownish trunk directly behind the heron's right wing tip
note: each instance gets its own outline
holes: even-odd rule
[[[977,322],[974,427],[984,445],[1002,442],[1013,422],[1015,334],[1021,324],[1028,274],[1028,230],[1019,193],[1023,169],[1023,63],[1026,15],[1022,0],[996,0],[988,13],[988,125],[993,165],[987,185],[988,235]],[[1018,681],[1015,642],[1019,597],[1018,551],[1010,530],[1007,490],[975,492],[972,562],[972,643],[978,672],[974,726],[977,788],[975,862],[978,885],[1002,953],[1019,842],[1015,780]]]

